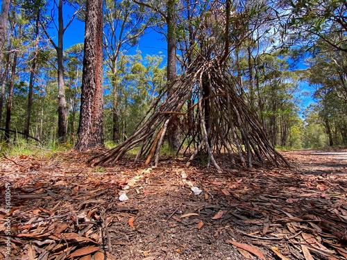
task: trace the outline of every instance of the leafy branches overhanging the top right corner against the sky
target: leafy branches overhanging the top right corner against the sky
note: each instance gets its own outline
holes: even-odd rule
[[[314,47],[321,40],[333,51],[347,52],[347,3],[344,0],[280,1],[287,13],[287,44]]]

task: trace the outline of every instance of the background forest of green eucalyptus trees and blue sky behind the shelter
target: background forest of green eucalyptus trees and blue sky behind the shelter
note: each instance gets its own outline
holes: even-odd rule
[[[274,146],[346,146],[347,3],[230,1],[226,34],[228,3],[105,1],[106,143],[125,141],[155,98],[167,90],[170,53],[142,55],[138,49],[144,33],[154,30],[168,43],[174,39],[178,75],[187,70],[196,53],[222,57],[224,43],[229,42],[226,63],[230,78]],[[64,15],[67,7],[75,12]],[[84,17],[83,1],[11,1],[6,38],[0,42],[1,149],[19,139],[31,142],[33,138],[50,146],[74,146],[83,43],[64,49],[63,42],[66,28]],[[52,37],[53,30],[58,37]],[[307,93],[303,93],[303,85],[307,85]],[[305,94],[314,103],[302,111],[301,95]],[[187,107],[189,101],[183,110]],[[178,120],[184,131],[189,114]]]

